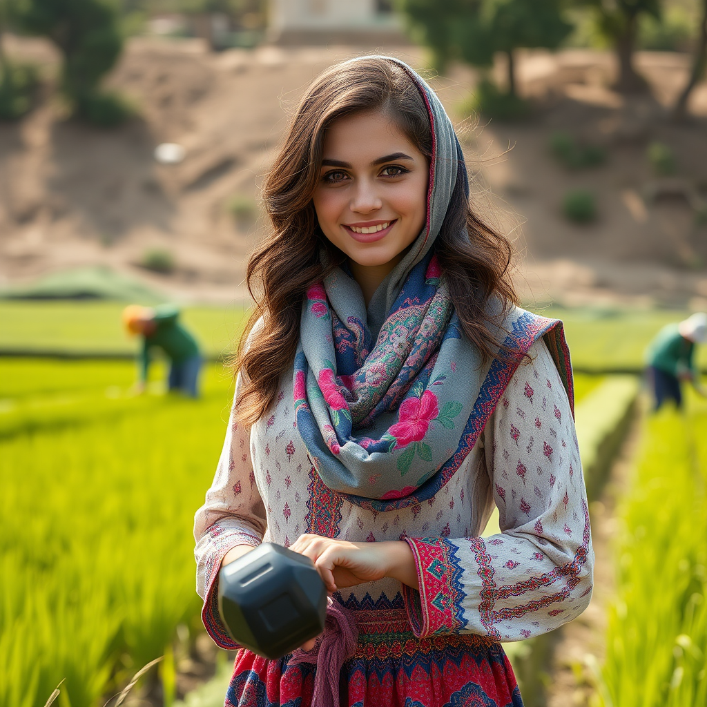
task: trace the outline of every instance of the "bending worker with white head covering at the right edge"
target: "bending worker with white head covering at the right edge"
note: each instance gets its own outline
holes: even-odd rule
[[[680,384],[689,380],[700,395],[705,395],[699,384],[699,370],[695,363],[695,344],[707,342],[707,314],[697,312],[679,324],[660,329],[648,345],[645,363],[648,380],[653,387],[655,409],[666,400],[674,400],[682,407]]]

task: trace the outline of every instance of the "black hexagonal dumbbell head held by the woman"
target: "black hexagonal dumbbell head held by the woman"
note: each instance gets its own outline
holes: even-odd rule
[[[236,643],[276,660],[324,631],[327,589],[308,557],[264,542],[221,568],[218,612]]]

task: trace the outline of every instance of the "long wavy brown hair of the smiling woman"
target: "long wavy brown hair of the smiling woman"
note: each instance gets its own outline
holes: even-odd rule
[[[253,252],[246,282],[255,300],[233,357],[242,387],[235,416],[248,424],[271,407],[281,376],[291,371],[300,335],[300,314],[308,287],[346,260],[322,233],[312,204],[320,178],[322,142],[337,119],[380,110],[421,153],[432,156],[427,107],[401,66],[380,57],[344,62],[312,81],[295,111],[284,144],[263,186],[272,233]],[[502,357],[491,333],[486,305],[496,295],[508,306],[517,298],[508,267],[510,243],[469,206],[466,173],[457,182],[434,244],[464,334],[486,361]],[[328,257],[325,267],[320,253]],[[256,322],[262,326],[248,339]]]

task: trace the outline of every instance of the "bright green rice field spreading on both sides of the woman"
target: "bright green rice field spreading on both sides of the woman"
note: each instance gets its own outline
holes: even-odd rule
[[[177,648],[199,631],[192,522],[211,482],[232,386],[204,368],[197,401],[163,391],[163,364],[132,395],[134,342],[115,303],[1,303],[0,707],[102,707],[147,662],[164,703]],[[566,320],[578,404],[607,371],[640,370],[645,342],[676,312],[549,312]],[[186,308],[216,359],[243,308]],[[703,347],[703,349],[707,349]],[[124,356],[70,358],[71,356]],[[705,351],[702,352],[704,356]],[[705,361],[705,358],[701,358]],[[596,396],[595,396],[596,398]],[[616,600],[597,681],[604,707],[707,704],[707,402],[642,421],[619,504]]]

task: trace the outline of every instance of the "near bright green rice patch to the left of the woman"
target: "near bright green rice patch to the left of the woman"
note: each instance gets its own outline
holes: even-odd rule
[[[47,366],[11,368],[39,380]],[[207,367],[197,402],[121,387],[106,397],[103,376],[119,366],[91,366],[98,389],[77,390],[69,375],[59,390],[59,365],[63,403],[10,398],[0,415],[0,572],[12,578],[0,583],[1,707],[42,707],[62,679],[62,707],[100,707],[170,655],[179,624],[199,623],[191,529],[222,443],[228,378]]]

